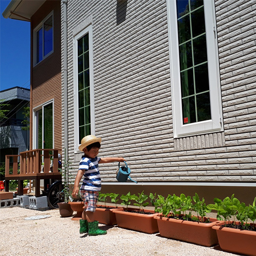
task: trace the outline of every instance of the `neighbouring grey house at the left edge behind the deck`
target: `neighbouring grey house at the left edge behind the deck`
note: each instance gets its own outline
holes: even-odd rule
[[[1,110],[8,110],[6,118],[0,120],[0,163],[5,162],[5,155],[18,155],[29,149],[29,131],[22,129],[29,100],[27,88],[16,86],[0,91],[0,103],[4,104]]]

